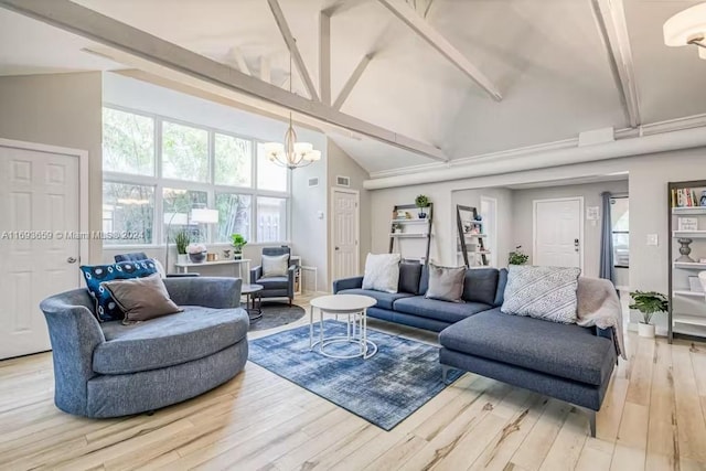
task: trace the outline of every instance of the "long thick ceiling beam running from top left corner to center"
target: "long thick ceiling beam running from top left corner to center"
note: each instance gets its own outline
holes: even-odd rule
[[[277,105],[282,116],[288,110],[292,110],[434,160],[449,160],[443,151],[435,146],[345,115],[321,101],[291,94],[276,85],[265,83],[226,64],[164,41],[73,1],[0,0],[0,7],[107,45],[110,49],[101,54],[114,56],[118,63],[135,65],[158,75],[169,73],[191,78],[196,83],[215,85],[229,92],[243,94],[247,98],[257,98],[253,101]]]

